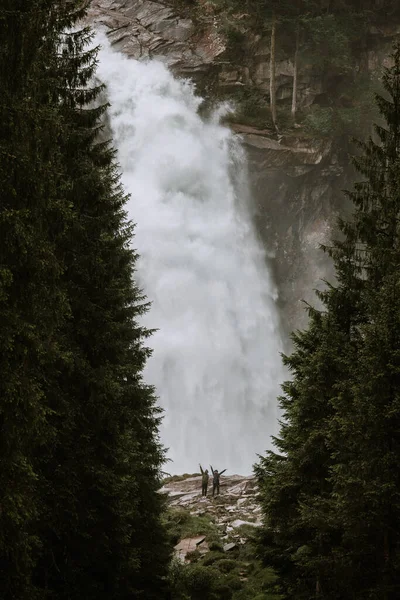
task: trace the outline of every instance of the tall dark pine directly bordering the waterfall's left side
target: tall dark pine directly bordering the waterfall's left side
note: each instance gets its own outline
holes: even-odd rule
[[[164,451],[154,391],[141,375],[150,332],[138,321],[148,305],[134,281],[133,228],[114,152],[97,139],[106,106],[88,106],[102,89],[92,84],[97,50],[87,49],[88,29],[62,32],[81,16],[60,15],[70,318],[60,332],[68,356],[51,404],[57,436],[40,457],[48,514],[35,581],[52,598],[165,598]]]

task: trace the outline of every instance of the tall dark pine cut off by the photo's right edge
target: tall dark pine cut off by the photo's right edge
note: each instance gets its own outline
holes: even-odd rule
[[[355,598],[400,593],[400,47],[386,69],[378,107],[380,144],[360,144],[366,180],[350,194],[348,235],[361,248],[365,319],[354,364],[353,402],[341,406],[334,493],[353,570]]]

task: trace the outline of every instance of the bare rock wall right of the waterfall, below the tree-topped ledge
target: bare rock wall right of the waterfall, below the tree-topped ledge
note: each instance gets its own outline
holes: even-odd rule
[[[303,301],[333,276],[321,244],[329,243],[350,170],[339,164],[329,140],[282,136],[233,126],[250,160],[254,217],[278,282],[288,333],[305,324]]]

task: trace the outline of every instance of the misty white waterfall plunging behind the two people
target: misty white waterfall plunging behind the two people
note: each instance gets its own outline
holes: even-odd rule
[[[137,223],[138,280],[158,331],[145,379],[165,409],[173,473],[198,463],[248,474],[277,431],[283,379],[276,290],[248,210],[240,142],[160,62],[113,52],[98,76]]]

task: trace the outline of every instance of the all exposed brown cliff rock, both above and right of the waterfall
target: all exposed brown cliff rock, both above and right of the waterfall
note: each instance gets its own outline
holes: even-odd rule
[[[192,4],[193,14],[199,5],[202,9],[201,26],[190,8],[178,14],[167,0],[92,0],[88,18],[106,29],[115,48],[134,58],[163,61],[176,75],[192,78],[203,95],[218,96],[246,84],[268,90],[268,40],[255,36],[246,60],[232,58],[207,3]],[[394,26],[371,31],[373,43],[364,53],[363,68],[380,70],[398,31]],[[278,61],[281,102],[289,98],[292,80],[292,62]],[[326,92],[311,65],[302,68],[298,89],[300,107]],[[248,150],[254,218],[274,268],[285,326],[291,330],[305,323],[302,300],[314,301],[312,290],[331,275],[319,245],[329,243],[343,210],[341,190],[352,178],[349,159],[332,140],[312,139],[300,130],[276,136],[245,125],[232,127]]]

